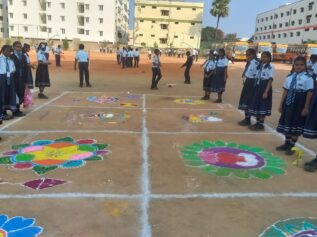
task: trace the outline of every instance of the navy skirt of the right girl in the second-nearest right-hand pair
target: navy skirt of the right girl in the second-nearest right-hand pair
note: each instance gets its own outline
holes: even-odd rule
[[[264,91],[270,80],[254,81],[253,95],[250,99],[248,114],[251,116],[270,116],[272,112],[272,88],[268,92],[268,98],[263,99]]]

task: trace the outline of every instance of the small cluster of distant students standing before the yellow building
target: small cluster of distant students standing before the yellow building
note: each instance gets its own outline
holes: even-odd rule
[[[131,47],[125,48],[122,50],[117,48],[117,63],[122,65],[122,69],[128,67],[139,67],[140,62],[140,52],[139,49],[135,50]]]

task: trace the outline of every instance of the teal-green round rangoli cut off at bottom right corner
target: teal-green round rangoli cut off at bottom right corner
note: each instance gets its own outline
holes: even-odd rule
[[[317,237],[317,219],[294,218],[278,221],[259,237]]]

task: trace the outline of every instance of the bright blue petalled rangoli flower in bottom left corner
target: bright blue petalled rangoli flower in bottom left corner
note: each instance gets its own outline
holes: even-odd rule
[[[9,218],[0,215],[0,237],[36,237],[43,232],[43,228],[34,226],[35,219],[15,216]]]

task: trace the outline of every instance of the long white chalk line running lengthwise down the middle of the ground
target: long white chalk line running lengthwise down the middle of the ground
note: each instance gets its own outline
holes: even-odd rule
[[[151,195],[151,184],[149,178],[149,135],[146,126],[146,95],[142,95],[142,174],[141,174],[141,188],[142,188],[142,203],[141,203],[141,223],[142,237],[151,237],[152,230],[149,222],[149,205],[150,205],[150,195]]]

